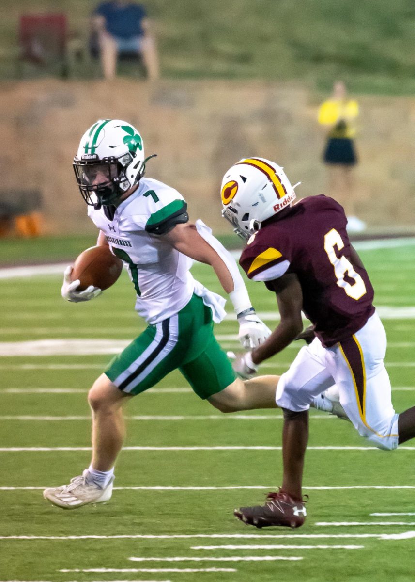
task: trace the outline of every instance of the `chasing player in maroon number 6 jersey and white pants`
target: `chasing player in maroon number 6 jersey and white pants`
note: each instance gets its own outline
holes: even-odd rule
[[[297,184],[296,184],[297,185]],[[276,293],[280,324],[269,338],[238,356],[234,369],[250,378],[302,330],[302,313],[314,339],[302,347],[278,383],[284,411],[280,491],[262,506],[235,515],[256,527],[299,527],[305,521],[302,474],[310,402],[336,384],[359,434],[381,449],[415,436],[415,407],[396,414],[384,366],[386,335],[373,306],[373,287],[350,244],[341,205],[326,196],[293,204],[295,186],[284,170],[263,158],[241,159],[225,174],[223,216],[246,241],[239,263],[253,281]]]

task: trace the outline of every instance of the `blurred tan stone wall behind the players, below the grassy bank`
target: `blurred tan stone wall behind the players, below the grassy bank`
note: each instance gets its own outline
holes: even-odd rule
[[[147,176],[179,190],[191,219],[224,232],[220,182],[241,157],[275,159],[292,183],[302,182],[299,197],[330,194],[316,122],[323,97],[269,81],[6,82],[0,88],[1,189],[40,190],[45,233],[92,232],[72,159],[97,119],[126,119],[141,132],[146,154],[158,154]],[[413,230],[415,99],[357,98],[359,216],[375,229]]]

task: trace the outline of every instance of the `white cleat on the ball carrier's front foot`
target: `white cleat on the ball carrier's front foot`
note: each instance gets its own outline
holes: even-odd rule
[[[98,487],[94,482],[87,481],[88,469],[82,475],[73,477],[69,485],[45,489],[45,499],[62,509],[76,509],[87,503],[102,503],[108,501],[112,495],[114,475],[105,488]]]

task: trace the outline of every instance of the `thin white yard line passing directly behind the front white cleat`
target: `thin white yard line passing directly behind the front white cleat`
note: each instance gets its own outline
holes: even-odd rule
[[[230,485],[223,487],[174,487],[173,485],[168,485],[163,487],[162,485],[148,486],[136,486],[136,487],[114,487],[114,491],[239,491],[239,490],[255,490],[264,489],[271,491],[275,488],[275,485]],[[350,485],[336,487],[306,487],[304,489],[309,491],[347,491],[350,489],[415,489],[415,485]],[[0,487],[0,491],[43,491],[46,489],[46,485],[43,487]],[[123,537],[123,536],[121,536]],[[1,539],[1,537],[0,537]]]

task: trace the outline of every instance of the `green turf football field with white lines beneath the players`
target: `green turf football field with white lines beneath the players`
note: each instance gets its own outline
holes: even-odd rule
[[[360,243],[359,253],[387,329],[393,402],[402,411],[415,397],[414,244]],[[195,265],[194,274],[220,290],[207,267]],[[0,278],[1,580],[413,581],[415,443],[373,450],[349,423],[313,411],[305,525],[245,527],[232,510],[262,502],[281,482],[281,413],[221,415],[178,373],[130,403],[109,503],[65,512],[45,502],[44,487],[89,464],[87,390],[109,352],[144,328],[126,274],[86,304],[63,301],[60,283],[60,274]],[[258,283],[249,290],[276,325],[273,295]],[[237,349],[232,318],[216,333],[224,348]],[[103,353],[78,353],[97,346]],[[284,371],[298,348],[263,372]]]

